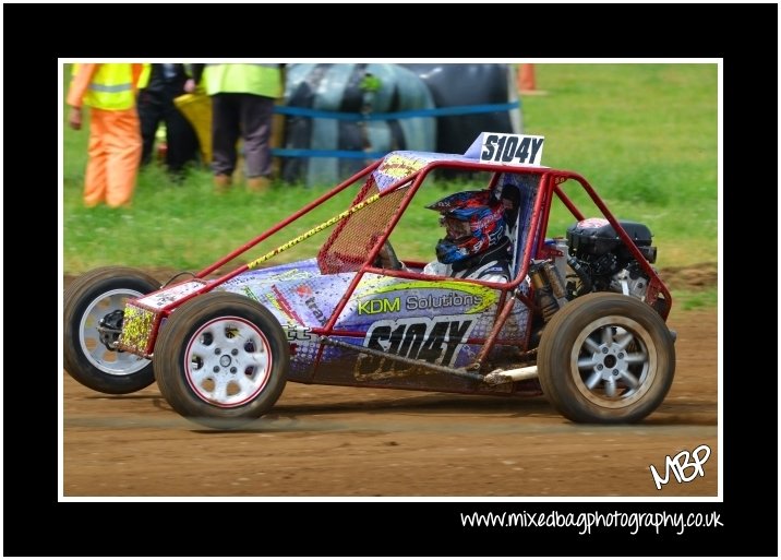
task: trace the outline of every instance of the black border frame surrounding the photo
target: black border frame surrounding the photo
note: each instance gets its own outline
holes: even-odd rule
[[[444,10],[447,10],[446,17]],[[49,306],[57,309],[55,297],[61,298],[59,291],[46,295],[49,284],[39,282],[44,275],[37,271],[48,267],[49,262],[57,263],[57,253],[48,252],[53,243],[35,231],[44,225],[47,233],[55,228],[56,236],[58,227],[58,208],[52,196],[53,186],[59,184],[58,146],[49,140],[49,134],[57,130],[58,106],[52,88],[47,85],[58,57],[99,53],[140,58],[303,58],[316,52],[319,58],[339,58],[353,56],[359,50],[367,58],[414,58],[425,52],[429,58],[454,61],[460,57],[492,56],[613,58],[616,52],[621,58],[722,58],[723,226],[734,233],[737,225],[764,222],[759,216],[762,204],[757,204],[755,198],[761,194],[752,193],[759,181],[752,179],[759,175],[761,182],[767,182],[762,177],[764,163],[777,162],[778,131],[774,135],[765,133],[761,123],[766,120],[767,107],[777,104],[778,76],[773,88],[761,72],[778,68],[778,59],[772,56],[777,52],[778,5],[38,4],[31,9],[29,4],[4,4],[3,14],[8,156],[3,170],[7,179],[4,248],[8,261],[14,262],[14,270],[24,266],[36,272],[38,282],[31,282],[29,287],[45,294],[37,302],[25,301],[22,308],[14,309],[20,302],[10,302],[11,310],[5,315],[9,318],[5,326],[13,325],[14,330],[9,329],[3,355],[4,556],[725,556],[732,550],[740,550],[742,556],[778,556],[776,520],[762,516],[757,507],[764,503],[767,511],[768,496],[777,496],[773,488],[778,489],[772,484],[778,470],[771,468],[772,458],[768,460],[765,451],[768,444],[757,443],[770,441],[769,446],[773,449],[777,442],[772,437],[777,436],[777,422],[770,424],[774,415],[768,412],[778,412],[778,398],[773,398],[774,393],[769,390],[758,391],[769,388],[768,379],[777,378],[766,372],[764,352],[736,356],[742,346],[740,341],[745,342],[747,335],[753,337],[760,330],[753,327],[749,333],[746,325],[756,320],[756,307],[764,303],[761,295],[755,291],[756,286],[744,281],[745,266],[760,261],[758,266],[764,272],[754,279],[761,281],[761,286],[769,275],[764,252],[767,245],[772,243],[746,243],[744,235],[750,231],[747,228],[737,233],[742,247],[735,248],[735,252],[724,251],[722,263],[725,273],[724,441],[719,452],[724,453],[724,501],[532,502],[514,508],[576,514],[615,510],[720,513],[722,527],[690,529],[681,536],[673,533],[657,536],[652,532],[632,536],[624,531],[578,536],[574,529],[461,526],[459,512],[513,509],[509,503],[496,502],[59,503],[57,382],[50,370],[44,370],[40,377],[37,371],[27,370],[37,389],[32,394],[20,394],[14,389],[20,382],[15,371],[24,368],[25,361],[19,360],[12,346],[13,336],[17,336],[17,329],[22,327],[25,336],[39,337],[45,352],[49,331],[45,326],[50,324],[51,317],[48,312],[41,317],[37,311],[48,310]],[[324,23],[348,17],[357,21],[338,29]],[[36,27],[41,19],[56,27],[52,29],[51,24],[46,31]],[[290,21],[276,31],[276,37],[281,33],[285,40],[269,37],[264,41],[264,33],[271,28],[266,23],[268,19]],[[385,20],[390,23],[384,25]],[[247,21],[257,22],[256,27],[248,28]],[[404,23],[392,26],[394,21]],[[464,29],[465,21],[470,22],[472,31]],[[508,31],[508,21],[515,22],[517,28]],[[368,22],[372,25],[367,25]],[[421,40],[404,33],[405,26],[413,26]],[[33,33],[23,34],[20,40],[20,27]],[[159,40],[161,29],[166,33],[171,29],[165,37],[165,46]],[[766,135],[769,138],[764,138]],[[51,165],[41,162],[51,162]],[[758,172],[748,172],[742,163],[758,166],[755,168]],[[769,175],[772,176],[772,171]],[[43,189],[43,195],[31,200],[24,196],[28,189]],[[20,213],[28,216],[23,224],[19,222]],[[24,235],[40,241],[25,242],[20,236],[20,226]],[[756,238],[752,236],[752,239]],[[41,257],[41,248],[48,253],[47,259]],[[59,276],[59,271],[57,274]],[[48,274],[46,277],[50,278]],[[29,282],[20,282],[23,279],[5,276],[7,293],[19,294],[16,289]],[[24,315],[27,320],[20,324],[20,317]],[[729,341],[737,344],[726,344]],[[27,349],[33,345],[26,344]],[[758,374],[762,381],[754,377]],[[770,456],[777,457],[777,454]],[[228,512],[232,519],[248,520],[248,527],[257,532],[257,538],[244,540],[237,547],[190,533],[193,520]]]

